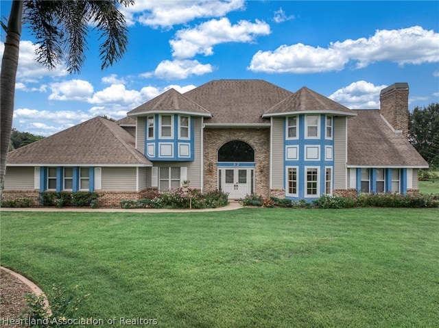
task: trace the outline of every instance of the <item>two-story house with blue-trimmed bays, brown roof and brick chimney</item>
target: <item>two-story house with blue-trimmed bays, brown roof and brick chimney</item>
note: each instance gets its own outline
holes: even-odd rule
[[[381,109],[351,110],[263,80],[171,89],[117,123],[96,117],[12,151],[5,197],[91,190],[115,205],[185,180],[230,199],[415,192],[428,165],[407,140],[408,92],[393,84]]]

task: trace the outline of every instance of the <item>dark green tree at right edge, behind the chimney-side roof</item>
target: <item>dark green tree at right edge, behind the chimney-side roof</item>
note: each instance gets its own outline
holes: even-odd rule
[[[409,118],[409,140],[430,166],[439,166],[439,103],[414,108]]]

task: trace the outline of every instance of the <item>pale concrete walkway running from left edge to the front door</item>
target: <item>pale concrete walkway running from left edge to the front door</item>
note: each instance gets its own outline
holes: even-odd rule
[[[242,205],[237,201],[230,201],[227,206],[218,208],[203,208],[200,210],[172,210],[172,209],[154,209],[154,208],[135,208],[135,209],[124,209],[116,207],[1,207],[0,212],[105,212],[105,213],[119,213],[119,212],[130,212],[130,213],[188,213],[188,212],[218,212],[218,211],[231,211],[242,208]]]

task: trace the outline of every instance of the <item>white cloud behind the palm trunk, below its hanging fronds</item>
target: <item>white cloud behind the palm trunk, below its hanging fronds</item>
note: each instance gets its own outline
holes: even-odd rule
[[[36,46],[31,41],[20,41],[19,67],[16,73],[16,79],[19,82],[31,81],[36,82],[43,77],[59,77],[67,75],[68,72],[64,66],[60,65],[54,70],[38,64],[35,55]],[[0,42],[0,57],[3,57],[4,43]]]

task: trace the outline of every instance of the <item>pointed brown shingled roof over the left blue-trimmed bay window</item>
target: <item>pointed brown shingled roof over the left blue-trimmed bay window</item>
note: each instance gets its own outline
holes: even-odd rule
[[[169,89],[157,97],[147,101],[138,108],[134,108],[128,112],[128,116],[137,116],[141,114],[157,113],[157,112],[184,112],[190,114],[198,114],[200,116],[211,117],[211,113],[188,99],[175,89]]]

